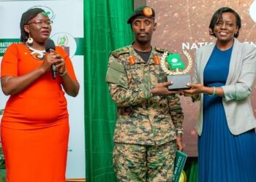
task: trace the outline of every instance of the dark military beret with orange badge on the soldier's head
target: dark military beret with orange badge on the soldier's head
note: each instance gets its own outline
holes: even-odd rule
[[[145,17],[149,17],[149,18],[153,18],[154,19],[154,9],[151,7],[138,7],[135,9],[135,11],[132,13],[132,15],[129,17],[127,23],[132,23],[132,20],[134,20],[135,18],[145,18]]]

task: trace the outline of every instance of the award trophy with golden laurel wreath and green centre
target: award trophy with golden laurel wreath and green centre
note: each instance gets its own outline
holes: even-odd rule
[[[187,68],[185,68],[180,54],[168,55],[168,52],[165,52],[160,60],[160,66],[167,75],[167,81],[173,82],[168,86],[169,90],[188,89],[187,83],[191,83],[189,71],[192,68],[192,58],[187,51],[183,51],[183,54],[188,60]],[[169,69],[167,65],[169,65]]]

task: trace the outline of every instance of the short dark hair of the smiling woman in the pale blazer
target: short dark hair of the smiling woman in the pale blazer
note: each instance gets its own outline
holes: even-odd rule
[[[241,28],[241,17],[238,15],[238,13],[235,10],[231,9],[230,7],[222,7],[220,9],[218,9],[216,12],[214,12],[214,15],[211,17],[211,23],[209,25],[210,35],[216,37],[216,35],[214,34],[214,26],[219,22],[219,20],[222,20],[222,13],[224,13],[224,12],[231,12],[231,13],[233,13],[233,15],[235,15],[236,25],[238,26],[238,31],[234,36],[235,36],[235,38],[238,38],[239,30]]]

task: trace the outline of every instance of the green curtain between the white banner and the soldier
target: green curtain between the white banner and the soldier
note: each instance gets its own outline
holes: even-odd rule
[[[86,182],[114,182],[113,131],[116,106],[105,75],[110,52],[131,44],[133,0],[84,0]]]

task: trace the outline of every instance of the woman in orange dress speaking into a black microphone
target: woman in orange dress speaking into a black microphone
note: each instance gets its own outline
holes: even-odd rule
[[[64,92],[75,97],[79,84],[61,47],[45,52],[51,24],[43,9],[24,12],[21,43],[11,44],[1,62],[1,88],[10,95],[1,119],[8,182],[65,181],[69,114]]]

